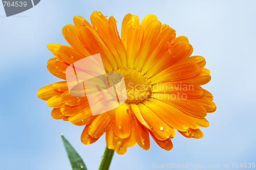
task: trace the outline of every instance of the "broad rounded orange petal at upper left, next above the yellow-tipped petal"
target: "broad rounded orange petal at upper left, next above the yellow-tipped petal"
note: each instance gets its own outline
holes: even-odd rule
[[[78,32],[79,28],[71,24],[68,24],[62,28],[63,37],[72,47],[74,47],[84,56],[91,56],[87,49],[84,48],[83,44],[81,43]]]

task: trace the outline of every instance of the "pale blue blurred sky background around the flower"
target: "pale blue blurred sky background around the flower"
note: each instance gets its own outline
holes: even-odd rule
[[[140,20],[155,14],[162,23],[185,35],[193,55],[206,59],[211,81],[203,87],[214,95],[202,139],[177,134],[174,148],[165,151],[151,142],[149,151],[138,145],[125,155],[114,155],[111,169],[154,169],[153,163],[221,164],[256,162],[256,2],[255,1],[47,1],[6,17],[0,5],[0,169],[71,169],[59,135],[71,142],[88,169],[97,169],[105,148],[80,142],[83,127],[51,117],[51,108],[36,91],[59,81],[48,72],[53,55],[48,43],[67,44],[63,26],[73,16],[90,20],[93,11],[114,15],[121,29],[126,13]],[[187,168],[189,169],[189,168]]]

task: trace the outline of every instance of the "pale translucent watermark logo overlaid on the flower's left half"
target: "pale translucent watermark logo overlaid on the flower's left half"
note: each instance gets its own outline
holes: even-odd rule
[[[69,65],[66,78],[70,94],[86,97],[92,115],[115,109],[127,99],[123,75],[118,72],[106,74],[100,54]]]

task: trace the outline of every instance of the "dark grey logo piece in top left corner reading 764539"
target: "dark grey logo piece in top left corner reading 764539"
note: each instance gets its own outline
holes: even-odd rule
[[[40,0],[20,0],[20,1],[2,0],[7,17],[27,11],[28,9],[36,6],[39,2]]]

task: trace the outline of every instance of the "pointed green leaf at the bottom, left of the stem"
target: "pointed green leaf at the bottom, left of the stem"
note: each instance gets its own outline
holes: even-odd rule
[[[67,151],[69,161],[71,163],[73,170],[87,170],[86,164],[84,164],[82,158],[76,152],[76,150],[72,147],[70,142],[60,133],[62,141],[64,143],[65,149]]]

